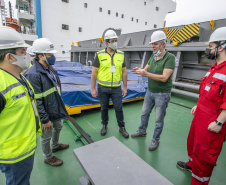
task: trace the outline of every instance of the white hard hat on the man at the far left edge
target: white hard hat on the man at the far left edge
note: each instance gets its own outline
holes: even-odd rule
[[[0,27],[0,50],[29,46],[15,29],[7,26]]]

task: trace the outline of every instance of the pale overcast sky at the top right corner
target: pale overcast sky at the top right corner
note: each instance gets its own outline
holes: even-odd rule
[[[176,12],[166,16],[166,27],[226,18],[226,0],[176,0]]]

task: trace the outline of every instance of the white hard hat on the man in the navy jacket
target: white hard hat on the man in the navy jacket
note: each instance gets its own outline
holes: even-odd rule
[[[51,53],[54,54],[57,50],[54,50],[53,43],[47,38],[36,39],[33,43],[33,53]]]

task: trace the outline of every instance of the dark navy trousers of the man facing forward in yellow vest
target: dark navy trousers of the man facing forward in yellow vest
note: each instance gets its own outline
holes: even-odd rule
[[[117,118],[118,126],[124,127],[124,117],[122,111],[122,89],[119,87],[104,87],[98,84],[98,97],[100,99],[101,106],[101,119],[102,124],[108,124],[108,108],[109,99],[112,99],[113,107],[115,109],[115,115]]]

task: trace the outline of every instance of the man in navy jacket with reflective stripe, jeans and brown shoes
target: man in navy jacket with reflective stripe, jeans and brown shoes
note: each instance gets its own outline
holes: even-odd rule
[[[37,39],[33,43],[33,53],[36,54],[34,64],[24,75],[30,81],[35,91],[38,112],[42,123],[41,146],[44,162],[52,166],[59,166],[62,160],[52,155],[53,152],[64,150],[68,144],[59,143],[60,131],[63,127],[62,119],[68,117],[64,102],[61,98],[61,83],[54,70],[56,58],[54,45],[47,38]],[[52,148],[50,141],[52,139]]]

